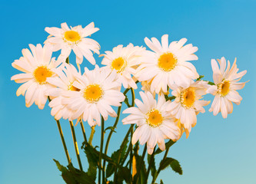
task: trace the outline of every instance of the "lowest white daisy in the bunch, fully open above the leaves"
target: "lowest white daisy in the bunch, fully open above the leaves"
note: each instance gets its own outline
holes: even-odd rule
[[[178,140],[179,130],[175,125],[175,118],[170,117],[165,108],[167,102],[164,95],[158,96],[158,102],[150,92],[140,92],[141,100],[135,99],[138,107],[129,107],[123,113],[131,113],[122,120],[124,124],[137,124],[131,143],[138,140],[141,145],[147,143],[148,154],[153,153],[155,145],[165,150],[165,139]]]

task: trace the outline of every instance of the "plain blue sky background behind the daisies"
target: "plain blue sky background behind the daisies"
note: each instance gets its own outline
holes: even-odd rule
[[[24,97],[16,97],[20,84],[10,81],[20,73],[12,62],[22,56],[28,44],[45,41],[45,27],[88,25],[95,21],[100,31],[91,36],[101,44],[101,53],[118,44],[144,45],[144,38],[168,34],[169,41],[188,38],[198,46],[198,61],[192,61],[199,74],[212,80],[211,58],[238,58],[238,68],[247,70],[248,81],[239,93],[241,105],[224,120],[208,112],[198,115],[198,123],[186,140],[182,137],[168,156],[178,159],[183,176],[171,169],[161,172],[165,183],[253,184],[256,181],[256,2],[232,1],[2,1],[0,55],[0,183],[55,183],[62,177],[52,159],[67,164],[55,120],[46,105],[39,110],[25,107]],[[72,57],[71,57],[72,58]],[[74,58],[74,57],[73,57]],[[101,58],[95,54],[98,64]],[[74,61],[73,61],[74,63]],[[92,68],[88,61],[85,65]],[[137,94],[138,97],[138,94]],[[205,99],[212,100],[208,95]],[[125,108],[123,108],[125,109]],[[111,125],[110,119],[107,123]],[[86,132],[90,127],[85,123]],[[107,125],[106,125],[107,126]],[[68,122],[62,121],[68,151],[78,167]],[[80,126],[75,127],[81,145]],[[119,123],[112,137],[111,151],[118,149],[128,126]],[[96,128],[94,144],[100,139]],[[81,150],[80,150],[81,151]],[[158,161],[163,155],[158,155]],[[86,157],[81,151],[81,159]],[[158,180],[159,182],[159,180]]]

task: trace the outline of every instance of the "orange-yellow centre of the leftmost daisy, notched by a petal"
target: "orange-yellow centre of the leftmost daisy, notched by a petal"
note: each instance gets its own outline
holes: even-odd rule
[[[52,74],[52,71],[50,71],[48,67],[37,67],[34,71],[35,81],[37,81],[38,84],[46,84],[46,78],[52,77]]]

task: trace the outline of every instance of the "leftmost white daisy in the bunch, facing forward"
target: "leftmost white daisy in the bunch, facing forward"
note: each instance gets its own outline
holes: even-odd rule
[[[45,91],[55,87],[48,84],[46,79],[56,77],[53,69],[58,67],[59,62],[52,58],[51,45],[45,44],[42,48],[41,44],[37,44],[36,47],[29,44],[29,48],[32,53],[27,48],[23,49],[23,57],[12,63],[12,67],[24,73],[12,76],[11,80],[24,83],[18,87],[16,94],[25,95],[26,107],[31,107],[35,102],[39,109],[43,109],[47,101]]]

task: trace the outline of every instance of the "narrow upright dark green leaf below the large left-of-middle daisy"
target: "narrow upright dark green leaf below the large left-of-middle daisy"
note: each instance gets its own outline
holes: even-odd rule
[[[97,175],[98,156],[95,155],[94,148],[90,144],[85,143],[84,149],[89,163],[87,171],[88,176],[95,180]]]

